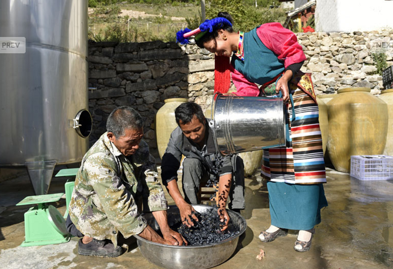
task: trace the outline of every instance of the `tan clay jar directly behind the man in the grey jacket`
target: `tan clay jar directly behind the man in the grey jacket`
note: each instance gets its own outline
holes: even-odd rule
[[[156,137],[160,158],[163,157],[165,149],[167,149],[172,132],[178,127],[175,120],[175,109],[182,103],[188,102],[188,99],[171,98],[164,102],[164,106],[156,114]]]

